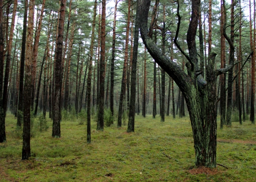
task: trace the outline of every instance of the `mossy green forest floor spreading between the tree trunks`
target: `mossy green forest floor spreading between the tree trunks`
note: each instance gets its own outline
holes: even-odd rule
[[[178,117],[178,116],[176,116]],[[116,124],[96,131],[92,120],[92,143],[86,143],[86,125],[78,120],[61,122],[61,138],[38,131],[34,121],[31,158],[21,160],[22,131],[16,119],[6,118],[7,142],[0,144],[0,181],[256,181],[256,125],[232,122],[217,130],[217,163],[214,169],[194,168],[194,142],[189,117],[135,117],[135,133]],[[36,124],[37,123],[37,124]],[[116,123],[116,122],[115,122]]]

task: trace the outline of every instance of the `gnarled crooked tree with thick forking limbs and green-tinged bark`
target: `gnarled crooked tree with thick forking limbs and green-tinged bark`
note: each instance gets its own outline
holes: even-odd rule
[[[178,2],[177,2],[178,3]],[[201,75],[198,66],[197,47],[195,36],[199,20],[199,0],[192,0],[192,14],[189,28],[187,31],[187,45],[189,54],[185,53],[177,42],[178,32],[180,29],[181,17],[179,14],[179,3],[177,7],[178,24],[174,43],[176,47],[187,58],[187,74],[180,66],[165,56],[156,44],[148,36],[147,22],[150,8],[150,0],[142,0],[140,5],[140,34],[142,40],[149,51],[150,55],[166,73],[173,78],[184,95],[189,110],[190,121],[192,125],[194,148],[195,148],[195,165],[216,167],[216,77],[221,73],[227,72],[233,65],[227,68],[214,70],[214,59],[216,54],[211,53],[208,56],[208,66],[206,67],[206,80]],[[199,71],[198,71],[199,70]],[[201,94],[204,95],[201,95]],[[200,96],[205,99],[206,117],[202,117]]]

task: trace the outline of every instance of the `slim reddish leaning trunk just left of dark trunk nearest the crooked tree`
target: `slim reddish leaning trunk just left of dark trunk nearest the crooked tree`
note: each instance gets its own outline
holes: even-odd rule
[[[125,76],[126,76],[126,64],[128,60],[128,43],[129,43],[129,30],[130,30],[130,7],[131,0],[128,0],[128,14],[127,14],[127,24],[126,24],[126,39],[125,39],[125,60],[123,66],[123,76],[121,82],[121,92],[119,99],[119,108],[118,108],[118,127],[122,126],[122,111],[123,111],[123,98],[125,94]]]

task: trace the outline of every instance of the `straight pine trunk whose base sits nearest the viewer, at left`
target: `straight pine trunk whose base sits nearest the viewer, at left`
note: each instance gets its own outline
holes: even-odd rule
[[[33,82],[32,82],[32,64],[33,64],[33,25],[34,25],[34,9],[35,0],[29,0],[29,13],[28,13],[28,36],[26,43],[26,67],[25,67],[25,83],[24,95],[31,95]],[[23,142],[22,142],[22,160],[27,160],[30,156],[30,106],[31,100],[24,99],[23,111]]]

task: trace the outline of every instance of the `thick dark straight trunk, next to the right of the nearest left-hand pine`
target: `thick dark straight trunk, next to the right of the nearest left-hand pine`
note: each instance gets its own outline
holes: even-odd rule
[[[52,124],[52,137],[61,137],[61,86],[62,86],[62,47],[63,28],[65,22],[66,0],[61,0],[59,17],[58,39],[55,61],[55,91],[54,91],[54,117]]]

